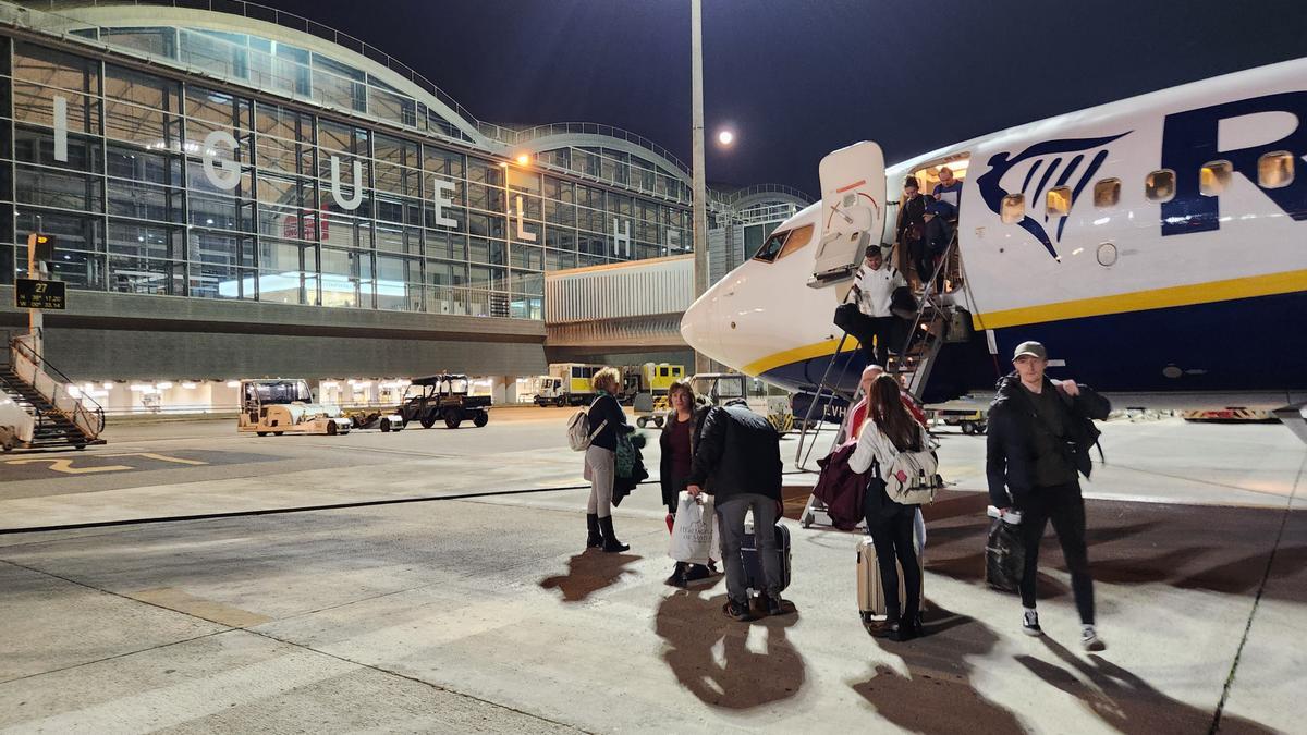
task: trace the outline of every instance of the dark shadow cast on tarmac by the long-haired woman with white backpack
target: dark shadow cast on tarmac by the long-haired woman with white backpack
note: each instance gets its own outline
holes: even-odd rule
[[[877,714],[914,732],[1025,732],[1016,714],[971,684],[975,667],[967,657],[988,654],[999,636],[972,617],[938,607],[927,609],[923,623],[924,637],[882,643],[887,653],[902,657],[907,677],[880,664],[874,676],[852,684],[852,689]]]

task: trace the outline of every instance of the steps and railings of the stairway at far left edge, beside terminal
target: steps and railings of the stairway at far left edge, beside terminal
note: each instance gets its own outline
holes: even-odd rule
[[[105,439],[99,438],[99,432],[105,428],[105,413],[99,405],[90,399],[68,395],[65,386],[71,381],[46,364],[44,360],[37,357],[21,337],[13,340],[10,345],[12,358],[0,362],[0,403],[13,402],[13,405],[26,413],[31,434],[29,438],[22,430],[16,432],[17,426],[3,425],[0,426],[0,449],[4,451],[16,447],[56,449],[71,446],[84,449],[105,443]],[[16,364],[21,360],[27,360],[29,365],[44,368],[42,378],[48,379],[41,382],[51,386],[52,395],[46,395],[20,375]],[[48,375],[46,370],[54,371],[54,375]],[[58,404],[63,404],[63,408]]]

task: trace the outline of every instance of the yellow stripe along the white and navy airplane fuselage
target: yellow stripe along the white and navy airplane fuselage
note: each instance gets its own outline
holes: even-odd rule
[[[1008,309],[1005,311],[991,311],[989,314],[972,314],[971,324],[976,330],[1001,330],[1005,327],[1019,327],[1022,324],[1039,324],[1043,322],[1059,322],[1064,319],[1084,319],[1086,316],[1103,316],[1107,314],[1145,311],[1149,309],[1192,306],[1196,303],[1256,298],[1259,296],[1277,296],[1302,290],[1307,290],[1307,271],[1287,271],[1266,276],[1248,276],[1243,279],[1230,279],[1226,281],[1210,281],[1206,284],[1171,286],[1155,290],[1141,290],[1097,298],[1064,301],[1061,303]],[[796,347],[793,349],[769,354],[767,357],[745,365],[742,371],[748,375],[762,375],[763,373],[775,370],[783,365],[791,365],[802,360],[826,357],[835,353],[835,347],[838,344],[839,340],[823,340],[817,344]]]

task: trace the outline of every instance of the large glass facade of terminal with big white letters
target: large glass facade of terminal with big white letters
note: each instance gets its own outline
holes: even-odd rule
[[[0,282],[25,276],[39,222],[74,289],[541,319],[546,269],[689,250],[684,183],[638,156],[570,146],[519,166],[315,52],[82,35],[329,109],[0,37]],[[618,186],[562,173],[591,169]]]

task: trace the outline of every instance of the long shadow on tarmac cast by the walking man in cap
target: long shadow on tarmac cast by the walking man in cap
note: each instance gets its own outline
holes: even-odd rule
[[[1018,655],[1017,660],[1039,679],[1085,702],[1110,727],[1140,735],[1217,731],[1214,711],[1168,697],[1100,655],[1090,654],[1089,660],[1085,660],[1048,636],[1039,640],[1067,666],[1030,655]],[[1276,732],[1270,727],[1234,715],[1223,715],[1219,730],[1268,735]]]

